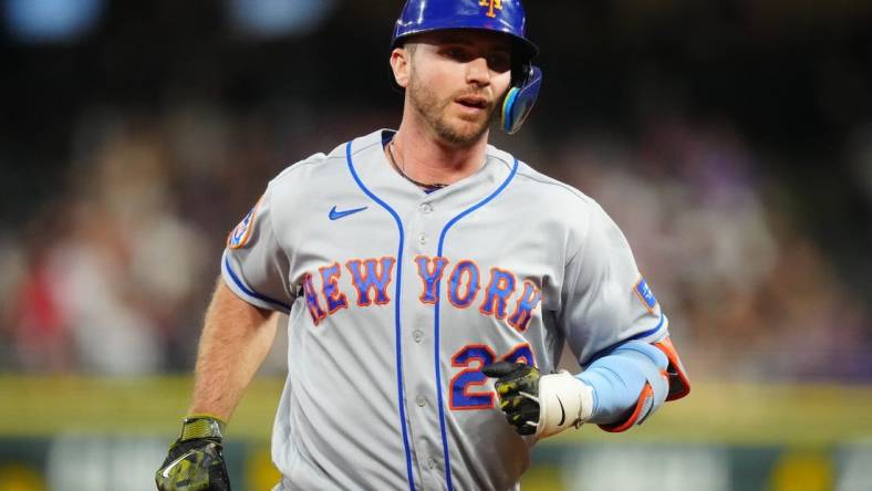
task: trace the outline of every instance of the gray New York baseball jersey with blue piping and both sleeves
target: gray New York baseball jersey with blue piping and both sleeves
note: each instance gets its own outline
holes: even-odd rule
[[[290,315],[273,460],[289,489],[517,489],[534,440],[480,368],[584,365],[666,318],[592,199],[490,146],[425,194],[391,136],[289,167],[228,238],[230,289]]]

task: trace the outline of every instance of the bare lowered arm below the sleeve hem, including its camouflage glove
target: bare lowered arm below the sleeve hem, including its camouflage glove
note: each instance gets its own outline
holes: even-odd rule
[[[155,474],[158,490],[230,489],[224,430],[276,336],[271,317],[271,311],[245,302],[218,280],[200,335],[194,400]]]

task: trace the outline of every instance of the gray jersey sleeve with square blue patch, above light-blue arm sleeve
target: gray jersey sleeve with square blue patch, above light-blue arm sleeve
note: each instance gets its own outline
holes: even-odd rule
[[[593,202],[588,217],[586,227],[574,232],[559,316],[583,367],[622,343],[655,342],[667,335],[666,316],[617,224]]]

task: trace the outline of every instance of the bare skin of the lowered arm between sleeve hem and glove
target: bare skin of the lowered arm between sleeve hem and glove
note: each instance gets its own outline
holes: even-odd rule
[[[276,337],[272,314],[218,280],[200,335],[189,414],[230,419]]]

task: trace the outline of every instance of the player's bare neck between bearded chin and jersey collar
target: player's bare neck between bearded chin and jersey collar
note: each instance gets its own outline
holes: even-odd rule
[[[409,178],[450,185],[478,171],[485,161],[487,143],[487,132],[473,145],[457,146],[426,130],[401,125],[391,149],[398,170]]]

